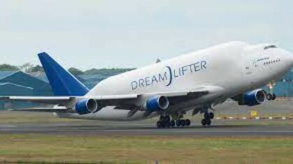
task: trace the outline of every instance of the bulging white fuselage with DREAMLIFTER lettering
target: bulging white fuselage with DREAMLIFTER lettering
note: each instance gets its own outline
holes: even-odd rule
[[[172,110],[191,110],[219,96],[230,98],[280,80],[292,68],[293,57],[280,48],[225,43],[184,54],[173,59],[115,75],[96,85],[87,96],[151,94],[153,92],[191,91],[198,86],[218,86],[223,91],[174,105]],[[128,118],[129,110],[105,107],[95,114],[58,114],[59,117],[105,120],[145,119],[144,112]],[[149,117],[155,116],[151,114]],[[149,118],[148,117],[148,118]]]

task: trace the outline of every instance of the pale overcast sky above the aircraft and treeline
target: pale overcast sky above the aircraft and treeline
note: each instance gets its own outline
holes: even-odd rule
[[[140,67],[231,40],[293,52],[293,1],[1,0],[0,63]]]

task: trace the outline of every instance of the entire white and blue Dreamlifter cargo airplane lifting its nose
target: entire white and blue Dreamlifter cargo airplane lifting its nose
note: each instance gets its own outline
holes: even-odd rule
[[[25,111],[54,112],[57,117],[133,121],[158,117],[157,128],[190,126],[183,116],[203,114],[210,126],[213,107],[228,98],[254,106],[276,99],[261,87],[281,80],[293,55],[273,44],[234,41],[183,54],[114,75],[89,90],[46,52],[38,54],[54,96],[6,96],[51,104]]]

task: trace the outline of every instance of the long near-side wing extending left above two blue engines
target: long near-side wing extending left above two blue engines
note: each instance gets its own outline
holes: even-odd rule
[[[4,96],[1,100],[8,101],[29,101],[33,103],[44,103],[52,105],[63,105],[73,107],[77,100],[93,99],[102,103],[103,106],[117,106],[127,109],[127,107],[136,105],[137,100],[148,98],[151,96],[166,96],[170,100],[170,104],[176,104],[180,101],[200,98],[206,94],[222,91],[222,87],[203,86],[186,91],[168,91],[153,92],[148,94],[125,94],[125,95],[106,95],[106,96]]]

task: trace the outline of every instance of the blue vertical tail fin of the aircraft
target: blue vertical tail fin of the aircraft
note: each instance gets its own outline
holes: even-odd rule
[[[89,89],[47,53],[38,54],[55,96],[84,96]]]

